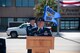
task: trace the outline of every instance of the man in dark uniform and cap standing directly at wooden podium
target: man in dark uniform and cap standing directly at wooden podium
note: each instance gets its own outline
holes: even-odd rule
[[[50,29],[44,27],[44,19],[39,18],[37,21],[38,27],[31,30],[30,36],[52,36]]]

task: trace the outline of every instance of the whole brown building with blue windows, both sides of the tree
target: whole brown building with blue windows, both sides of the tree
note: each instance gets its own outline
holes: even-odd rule
[[[40,0],[0,0],[0,30],[10,23],[28,22],[34,16],[34,6]],[[61,7],[60,31],[80,31],[80,6]]]

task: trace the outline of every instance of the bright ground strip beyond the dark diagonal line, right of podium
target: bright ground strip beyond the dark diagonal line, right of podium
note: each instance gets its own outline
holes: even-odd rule
[[[62,36],[64,39],[71,39],[74,42],[80,42],[80,32],[59,32],[60,36]],[[53,36],[58,37],[56,35],[56,32],[53,32]]]

